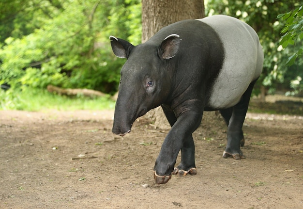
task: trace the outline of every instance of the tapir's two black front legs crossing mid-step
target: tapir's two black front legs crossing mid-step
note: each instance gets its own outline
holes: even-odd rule
[[[157,184],[166,183],[170,179],[180,150],[182,150],[182,159],[178,167],[181,170],[186,171],[183,174],[186,175],[189,172],[194,175],[197,173],[194,158],[194,141],[191,134],[199,126],[203,114],[202,111],[200,113],[195,111],[186,111],[179,116],[178,120],[175,119],[175,123],[172,123],[173,112],[165,107],[162,108],[169,123],[173,126],[163,142],[153,169],[155,172],[154,178]],[[190,166],[194,166],[191,167],[193,168],[192,170],[189,168]],[[175,170],[174,173],[177,173],[177,170]]]

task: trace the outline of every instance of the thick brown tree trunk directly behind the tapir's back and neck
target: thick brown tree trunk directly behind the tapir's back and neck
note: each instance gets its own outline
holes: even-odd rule
[[[204,0],[142,0],[142,43],[169,24],[203,17]],[[155,127],[170,128],[161,107],[151,110],[147,117]]]

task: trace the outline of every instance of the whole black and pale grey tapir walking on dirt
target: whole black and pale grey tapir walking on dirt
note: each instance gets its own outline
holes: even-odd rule
[[[172,174],[197,174],[192,133],[203,111],[219,110],[227,124],[223,158],[244,158],[242,125],[263,67],[262,47],[249,25],[216,15],[173,23],[137,46],[114,36],[110,41],[114,54],[127,58],[112,132],[124,136],[136,118],[160,105],[171,125],[153,168],[157,184]]]

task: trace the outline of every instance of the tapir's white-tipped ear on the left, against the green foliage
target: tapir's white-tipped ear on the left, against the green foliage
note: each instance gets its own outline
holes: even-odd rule
[[[114,54],[119,58],[128,58],[134,45],[125,41],[121,38],[116,38],[115,36],[109,36],[111,48]]]

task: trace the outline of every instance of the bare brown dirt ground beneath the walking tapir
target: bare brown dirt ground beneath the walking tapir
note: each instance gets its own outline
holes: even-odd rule
[[[198,174],[165,185],[152,168],[168,129],[142,117],[122,138],[112,118],[0,111],[0,209],[303,208],[303,116],[248,113],[237,161],[222,158],[226,127],[206,116],[193,134]]]

